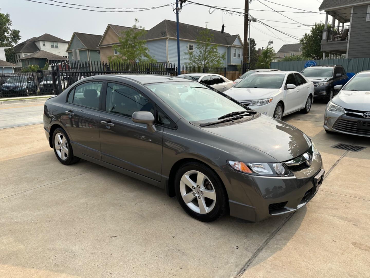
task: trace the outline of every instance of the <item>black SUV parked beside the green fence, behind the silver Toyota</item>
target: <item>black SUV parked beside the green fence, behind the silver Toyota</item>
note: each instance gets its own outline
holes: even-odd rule
[[[313,82],[315,97],[329,100],[335,95],[334,86],[344,85],[349,80],[346,71],[342,66],[312,66],[302,70],[308,80]]]

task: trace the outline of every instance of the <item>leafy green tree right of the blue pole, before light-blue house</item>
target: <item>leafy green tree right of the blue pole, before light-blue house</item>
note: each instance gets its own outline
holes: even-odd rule
[[[199,32],[196,36],[194,51],[187,51],[189,66],[197,67],[221,67],[225,61],[226,53],[218,52],[218,44],[213,44],[213,34],[209,29]]]

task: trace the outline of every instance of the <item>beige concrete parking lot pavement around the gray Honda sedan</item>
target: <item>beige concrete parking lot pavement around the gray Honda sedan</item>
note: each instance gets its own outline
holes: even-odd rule
[[[259,223],[199,222],[159,188],[84,160],[64,166],[42,124],[0,130],[0,277],[369,277],[369,138],[325,133],[324,109],[284,118],[320,150],[323,185]]]

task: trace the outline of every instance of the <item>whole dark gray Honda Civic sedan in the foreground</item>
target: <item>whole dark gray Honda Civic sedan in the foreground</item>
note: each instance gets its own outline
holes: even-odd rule
[[[44,129],[64,165],[82,158],[151,183],[205,222],[287,214],[324,178],[302,131],[178,77],[84,78],[46,101]]]

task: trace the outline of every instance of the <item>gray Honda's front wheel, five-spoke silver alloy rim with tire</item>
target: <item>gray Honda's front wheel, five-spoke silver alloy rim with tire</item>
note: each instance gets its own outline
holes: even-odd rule
[[[182,208],[192,217],[211,222],[227,211],[227,194],[219,177],[198,162],[188,162],[179,168],[175,191]]]

